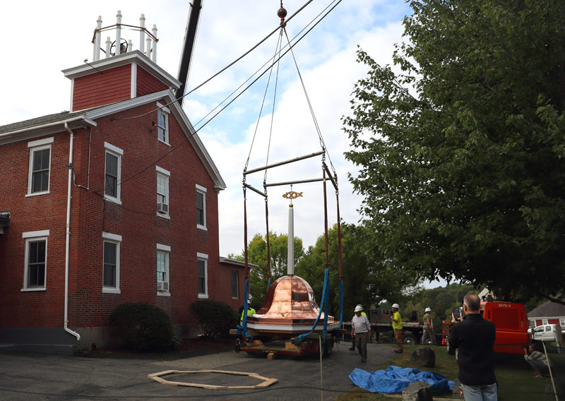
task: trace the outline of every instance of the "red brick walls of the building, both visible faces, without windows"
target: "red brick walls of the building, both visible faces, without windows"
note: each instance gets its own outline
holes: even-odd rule
[[[165,102],[162,100],[161,102]],[[148,302],[165,309],[174,323],[193,322],[189,305],[198,299],[197,253],[208,255],[208,297],[231,304],[231,268],[222,275],[218,246],[218,193],[174,116],[169,116],[169,145],[157,140],[156,103],[99,119],[97,126],[75,131],[69,263],[69,327],[107,325],[109,314],[125,302]],[[149,114],[137,119],[123,116]],[[0,211],[11,212],[11,226],[0,235],[0,328],[61,327],[64,321],[65,219],[69,133],[54,134],[50,193],[25,197],[28,186],[27,141],[0,145]],[[121,205],[104,198],[105,142],[123,150]],[[158,161],[157,161],[158,160]],[[170,172],[169,215],[156,210],[155,164]],[[196,184],[206,191],[206,226],[196,227]],[[79,187],[83,186],[83,188]],[[88,188],[86,188],[88,186]],[[49,229],[47,289],[21,292],[24,268],[22,233]],[[121,236],[120,294],[102,292],[102,232]],[[170,246],[170,296],[157,295],[156,244]],[[9,274],[8,274],[9,272]],[[242,286],[242,274],[240,285]],[[242,287],[243,288],[243,287]],[[243,294],[241,290],[240,294]]]

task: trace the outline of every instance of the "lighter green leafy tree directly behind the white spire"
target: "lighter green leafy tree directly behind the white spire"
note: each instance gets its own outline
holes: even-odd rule
[[[302,239],[295,237],[295,265],[304,255]],[[288,235],[269,233],[270,249],[270,275],[271,283],[279,277],[287,274],[288,258]],[[243,261],[244,253],[241,255],[228,255],[229,258]],[[253,304],[262,305],[267,294],[268,266],[267,266],[267,241],[266,236],[255,234],[247,246],[247,261],[257,265],[250,269],[249,292],[253,297]]]

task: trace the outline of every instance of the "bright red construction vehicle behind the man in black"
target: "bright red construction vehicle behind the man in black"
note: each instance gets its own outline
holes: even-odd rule
[[[482,317],[492,321],[496,327],[494,352],[505,354],[523,354],[523,345],[530,342],[528,334],[528,316],[523,304],[491,301],[481,303]],[[451,321],[444,321],[441,343],[447,344],[447,335]]]

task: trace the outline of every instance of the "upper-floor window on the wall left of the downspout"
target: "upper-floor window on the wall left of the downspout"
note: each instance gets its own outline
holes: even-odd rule
[[[28,142],[28,148],[30,148],[28,196],[49,193],[52,143],[53,137]]]

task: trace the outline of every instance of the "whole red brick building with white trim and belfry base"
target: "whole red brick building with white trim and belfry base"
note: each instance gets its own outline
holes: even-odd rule
[[[0,344],[104,345],[126,302],[160,306],[185,335],[193,301],[237,309],[243,265],[219,256],[225,183],[179,81],[139,50],[63,72],[70,112],[0,126]]]

